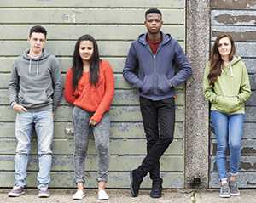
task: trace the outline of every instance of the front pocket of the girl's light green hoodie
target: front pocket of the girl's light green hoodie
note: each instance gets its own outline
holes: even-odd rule
[[[217,104],[214,104],[218,110],[226,113],[232,113],[241,109],[240,100],[236,96],[218,95]]]

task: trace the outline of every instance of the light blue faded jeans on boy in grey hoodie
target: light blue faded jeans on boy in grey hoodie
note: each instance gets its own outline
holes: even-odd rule
[[[17,139],[15,155],[15,185],[26,186],[26,168],[29,159],[32,129],[38,136],[38,189],[49,184],[49,172],[52,161],[52,140],[54,123],[52,110],[17,113],[15,136]]]

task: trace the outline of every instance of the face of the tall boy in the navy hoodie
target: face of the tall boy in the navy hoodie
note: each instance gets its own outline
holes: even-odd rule
[[[157,34],[160,32],[163,21],[160,14],[152,13],[147,14],[144,24],[147,27],[148,33]]]

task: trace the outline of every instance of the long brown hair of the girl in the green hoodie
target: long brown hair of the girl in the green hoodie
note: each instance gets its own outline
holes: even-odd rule
[[[209,81],[210,85],[213,85],[214,82],[217,81],[218,76],[221,75],[221,65],[223,64],[223,60],[221,59],[221,56],[218,52],[218,43],[219,43],[219,40],[224,37],[228,37],[230,39],[230,43],[231,43],[231,52],[230,52],[229,59],[232,60],[233,56],[236,54],[236,47],[235,47],[233,38],[229,34],[226,34],[226,33],[219,34],[212,46],[212,51],[211,51],[210,59],[209,59],[210,72],[208,75],[208,81]]]

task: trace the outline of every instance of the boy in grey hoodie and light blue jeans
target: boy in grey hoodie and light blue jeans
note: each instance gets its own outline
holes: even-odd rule
[[[30,29],[30,48],[15,59],[9,80],[9,102],[16,112],[15,184],[10,197],[25,193],[26,168],[32,128],[38,137],[38,197],[49,197],[49,172],[54,134],[53,116],[61,101],[61,69],[54,55],[44,50],[47,31],[40,25]]]

